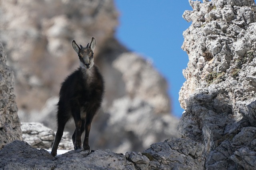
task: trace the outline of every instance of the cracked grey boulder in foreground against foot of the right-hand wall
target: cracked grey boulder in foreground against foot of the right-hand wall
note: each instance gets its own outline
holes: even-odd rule
[[[142,154],[150,160],[152,169],[204,169],[204,146],[200,143],[170,138],[154,143]]]

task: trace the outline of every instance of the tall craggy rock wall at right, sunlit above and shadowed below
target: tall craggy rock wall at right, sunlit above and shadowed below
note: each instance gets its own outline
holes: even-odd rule
[[[206,169],[256,168],[256,7],[253,0],[189,0],[188,53],[178,131],[202,143]]]

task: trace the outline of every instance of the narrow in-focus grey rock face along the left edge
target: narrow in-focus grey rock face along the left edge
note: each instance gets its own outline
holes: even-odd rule
[[[22,139],[13,88],[13,72],[6,65],[6,54],[0,43],[0,149],[14,140]]]

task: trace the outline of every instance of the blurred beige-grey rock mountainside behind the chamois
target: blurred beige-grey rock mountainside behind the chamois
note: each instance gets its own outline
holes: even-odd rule
[[[41,122],[56,131],[60,84],[78,67],[71,42],[86,45],[93,36],[106,92],[92,123],[91,148],[140,151],[178,137],[166,80],[118,42],[116,27],[113,0],[0,1],[0,42],[14,72],[20,121]],[[66,131],[72,134],[74,123]]]

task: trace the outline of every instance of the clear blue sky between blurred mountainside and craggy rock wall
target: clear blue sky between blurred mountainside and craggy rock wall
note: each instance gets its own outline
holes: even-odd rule
[[[120,12],[116,37],[128,49],[151,59],[166,78],[172,99],[172,114],[180,117],[184,109],[178,101],[185,78],[188,55],[181,49],[182,36],[191,23],[182,18],[192,10],[188,0],[115,0]]]

